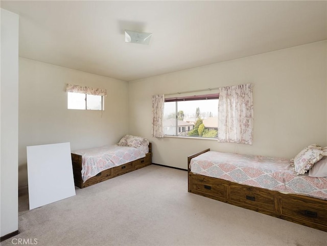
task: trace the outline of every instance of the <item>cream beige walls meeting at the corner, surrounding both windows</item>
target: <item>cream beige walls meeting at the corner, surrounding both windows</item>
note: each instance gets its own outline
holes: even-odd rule
[[[153,143],[153,162],[186,168],[205,148],[293,157],[327,145],[327,41],[211,64],[129,83],[19,58],[19,186],[27,185],[26,146],[113,144],[126,133]],[[66,83],[107,88],[105,111],[68,110]],[[253,83],[253,145],[151,137],[151,95]]]

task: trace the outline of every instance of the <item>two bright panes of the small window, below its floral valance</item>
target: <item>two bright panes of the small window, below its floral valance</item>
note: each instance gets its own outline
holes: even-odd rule
[[[104,110],[103,96],[88,95],[83,93],[67,93],[68,109]]]

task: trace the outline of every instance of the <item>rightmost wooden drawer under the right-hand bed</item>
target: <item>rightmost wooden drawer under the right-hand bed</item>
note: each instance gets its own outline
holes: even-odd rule
[[[325,206],[317,204],[310,199],[303,201],[296,198],[288,198],[282,201],[283,215],[315,223],[325,221],[325,226],[327,226],[327,208]]]

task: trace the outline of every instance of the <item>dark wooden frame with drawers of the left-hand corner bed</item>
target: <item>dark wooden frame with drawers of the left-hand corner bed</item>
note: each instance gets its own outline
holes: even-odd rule
[[[85,183],[82,179],[82,155],[72,153],[72,163],[73,163],[73,173],[74,173],[74,182],[75,186],[79,188],[85,188],[90,185],[100,183],[102,181],[109,180],[110,178],[135,171],[139,168],[143,168],[152,164],[152,145],[149,143],[149,153],[146,154],[144,158],[137,159],[132,162],[125,163],[118,167],[112,167],[106,169],[96,176],[89,178]]]

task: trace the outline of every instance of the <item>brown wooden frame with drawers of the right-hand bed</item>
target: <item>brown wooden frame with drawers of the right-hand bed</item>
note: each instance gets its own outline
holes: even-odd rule
[[[327,232],[327,200],[192,173],[191,159],[209,150],[188,156],[189,192]]]

